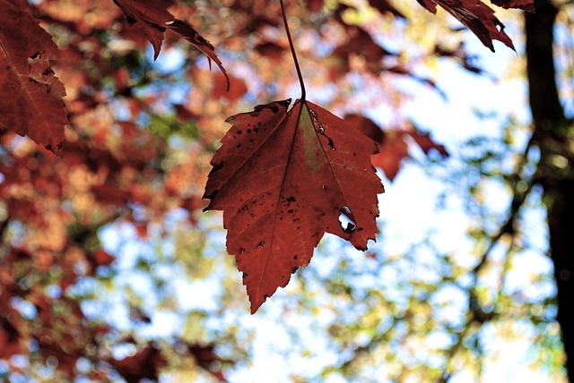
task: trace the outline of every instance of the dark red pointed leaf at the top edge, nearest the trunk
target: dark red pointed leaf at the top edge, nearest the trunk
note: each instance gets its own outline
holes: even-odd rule
[[[516,50],[512,40],[504,32],[504,25],[494,16],[494,11],[481,0],[417,0],[417,2],[431,13],[437,13],[437,5],[440,5],[469,30],[472,30],[474,35],[492,52],[494,52],[492,39],[499,40],[512,50]],[[498,4],[512,6],[512,4],[522,3],[524,7],[532,2],[533,0],[499,0]]]

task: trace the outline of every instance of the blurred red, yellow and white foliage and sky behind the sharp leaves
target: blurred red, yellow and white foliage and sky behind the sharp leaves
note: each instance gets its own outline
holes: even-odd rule
[[[385,137],[431,131],[449,156],[408,138],[402,157],[387,148],[401,171],[379,169],[377,243],[361,253],[327,237],[252,317],[202,195],[225,118],[299,96],[279,2],[171,6],[216,47],[230,92],[175,36],[153,61],[111,1],[31,4],[61,49],[71,124],[62,160],[2,132],[3,379],[567,381],[522,13],[497,9],[517,47],[497,57],[414,0],[287,2],[309,99]],[[488,101],[505,86],[508,105]],[[452,98],[474,92],[484,103],[457,110]]]

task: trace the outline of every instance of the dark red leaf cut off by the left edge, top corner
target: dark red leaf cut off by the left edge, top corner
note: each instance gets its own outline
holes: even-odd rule
[[[50,67],[57,46],[29,13],[0,6],[0,127],[57,153],[68,123],[64,85]]]

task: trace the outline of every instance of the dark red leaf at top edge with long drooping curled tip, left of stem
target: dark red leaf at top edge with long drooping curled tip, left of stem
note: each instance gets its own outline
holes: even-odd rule
[[[168,11],[171,5],[170,0],[114,0],[114,3],[126,14],[127,23],[150,40],[153,46],[154,59],[160,55],[165,31],[171,30],[186,39],[210,60],[213,60],[225,75],[229,88],[230,82],[227,72],[220,59],[215,55],[213,45],[197,33],[189,23],[176,19]]]

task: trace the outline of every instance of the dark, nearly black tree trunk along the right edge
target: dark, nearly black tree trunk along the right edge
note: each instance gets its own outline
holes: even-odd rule
[[[540,183],[550,230],[550,251],[558,288],[558,315],[574,382],[574,153],[571,122],[564,115],[554,68],[553,27],[558,10],[549,0],[535,0],[536,13],[526,13],[526,64],[534,140],[540,148]],[[571,137],[570,137],[571,140]]]

